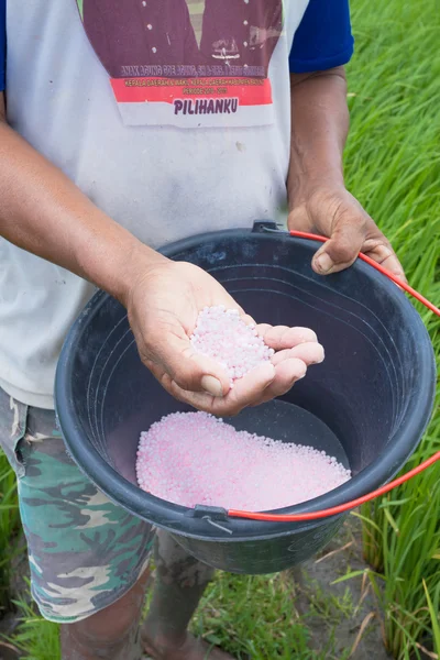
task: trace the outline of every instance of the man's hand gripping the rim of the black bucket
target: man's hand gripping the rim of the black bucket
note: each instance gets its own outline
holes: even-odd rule
[[[343,185],[317,185],[304,193],[289,213],[288,228],[330,238],[312,261],[320,275],[351,266],[359,252],[363,252],[405,280],[389,241]]]

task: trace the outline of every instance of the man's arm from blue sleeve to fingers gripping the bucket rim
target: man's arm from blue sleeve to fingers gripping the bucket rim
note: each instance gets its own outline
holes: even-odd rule
[[[314,258],[320,274],[341,271],[364,252],[404,279],[389,242],[344,187],[349,111],[343,67],[290,74],[290,89],[289,229],[330,237]]]

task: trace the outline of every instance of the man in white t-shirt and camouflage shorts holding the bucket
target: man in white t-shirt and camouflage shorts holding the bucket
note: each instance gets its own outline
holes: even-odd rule
[[[131,0],[120,4],[129,11]],[[209,275],[155,248],[251,227],[255,218],[285,221],[288,205],[292,229],[331,237],[314,257],[318,273],[349,266],[362,250],[403,277],[388,242],[343,185],[346,0],[286,3],[283,21],[268,72],[272,123],[246,124],[243,106],[240,125],[223,114],[208,129],[183,117],[177,129],[164,102],[162,123],[133,127],[121,121],[75,0],[8,4],[0,30],[0,47],[8,40],[0,440],[18,474],[32,593],[42,614],[62,624],[63,660],[131,660],[139,638],[157,659],[207,657],[187,625],[211,570],[160,535],[155,590],[139,635],[152,530],[79,473],[56,431],[57,356],[94,285],[127,306],[142,360],[172,395],[226,415],[288,391],[322,360],[322,349],[311,330],[268,328],[265,340],[288,349],[285,360],[230,391],[216,363],[191,353],[188,334],[201,307],[234,301]],[[209,657],[228,658],[217,649]]]

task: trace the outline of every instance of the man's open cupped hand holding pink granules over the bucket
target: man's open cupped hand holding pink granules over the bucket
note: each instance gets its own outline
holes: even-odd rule
[[[174,397],[213,415],[235,415],[285,394],[310,364],[323,360],[312,330],[257,326],[258,334],[277,352],[230,389],[223,367],[196,354],[189,336],[206,306],[224,305],[239,309],[245,322],[253,320],[213,277],[185,262],[164,260],[140,267],[123,302],[144,364]]]

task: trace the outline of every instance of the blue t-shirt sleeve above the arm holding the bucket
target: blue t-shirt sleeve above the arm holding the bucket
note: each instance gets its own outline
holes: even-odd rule
[[[295,33],[289,56],[293,74],[341,66],[353,55],[349,0],[310,0]]]

